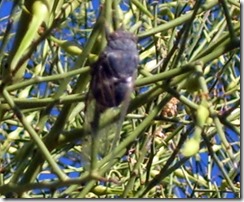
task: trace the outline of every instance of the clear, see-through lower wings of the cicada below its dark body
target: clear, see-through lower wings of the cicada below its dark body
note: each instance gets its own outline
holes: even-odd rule
[[[113,117],[116,117],[118,113],[119,108],[109,108],[101,112],[97,110],[97,102],[94,98],[87,100],[85,128],[88,135],[82,144],[82,157],[87,165],[90,165],[94,152],[96,158],[101,159],[112,150],[119,123]],[[96,141],[95,144],[92,141]]]

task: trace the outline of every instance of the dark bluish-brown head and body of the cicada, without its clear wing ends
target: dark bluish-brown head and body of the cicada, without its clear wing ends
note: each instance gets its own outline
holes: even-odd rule
[[[91,91],[103,111],[116,107],[133,88],[139,62],[136,38],[117,30],[107,36],[107,47],[92,65]]]

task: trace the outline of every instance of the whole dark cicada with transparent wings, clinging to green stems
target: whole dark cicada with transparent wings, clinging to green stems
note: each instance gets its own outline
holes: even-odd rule
[[[138,65],[136,42],[130,33],[120,30],[107,38],[107,47],[92,65],[88,97],[93,100],[88,99],[86,107],[93,159],[107,154],[119,140]],[[112,119],[111,124],[102,123],[106,122],[106,116],[113,117],[118,110],[120,116],[116,122]],[[95,156],[94,149],[98,151]]]

